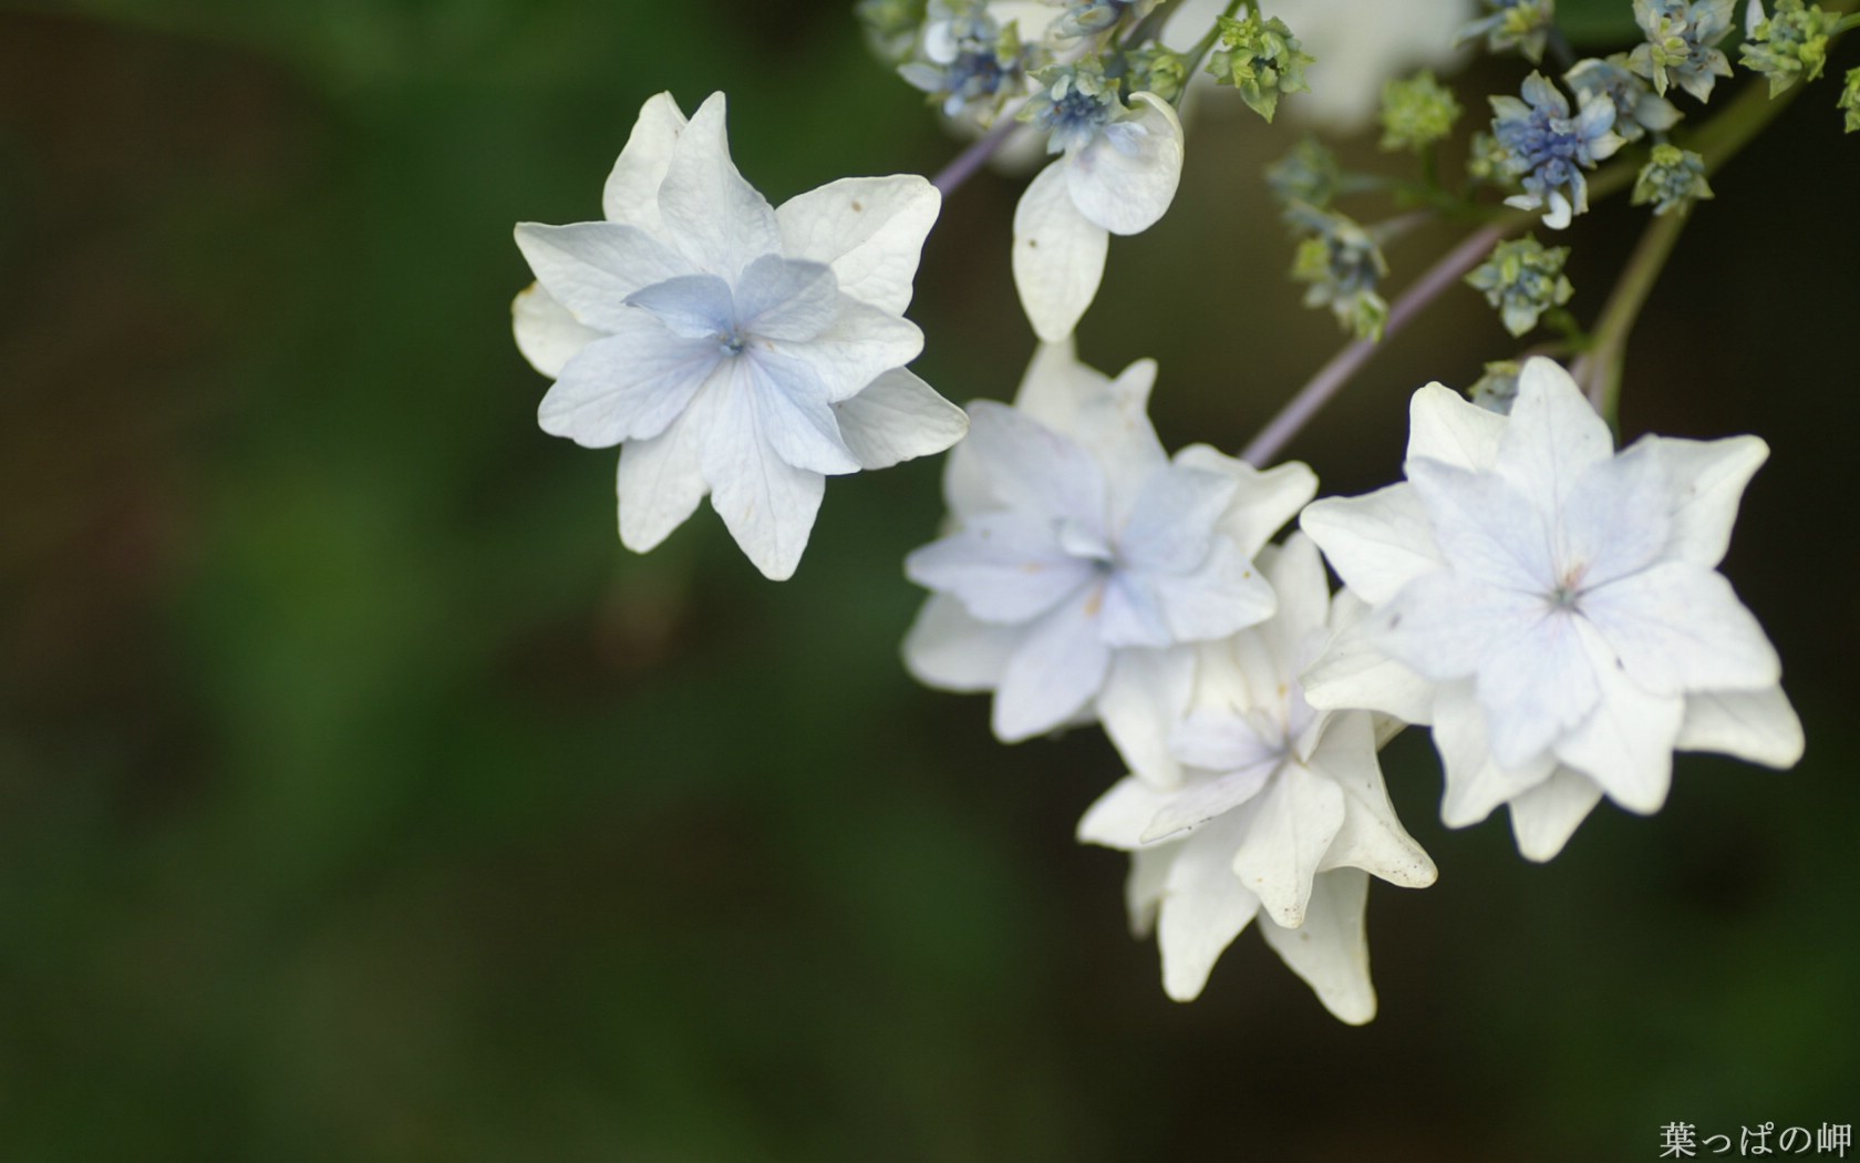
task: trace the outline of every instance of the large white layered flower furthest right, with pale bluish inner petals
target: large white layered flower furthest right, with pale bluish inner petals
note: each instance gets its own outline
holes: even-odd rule
[[[1306,692],[1432,722],[1449,826],[1510,804],[1520,850],[1549,860],[1603,795],[1657,811],[1674,748],[1800,757],[1776,651],[1715,569],[1763,441],[1650,435],[1616,456],[1548,359],[1508,419],[1438,383],[1410,419],[1406,484],[1304,512],[1375,607]]]

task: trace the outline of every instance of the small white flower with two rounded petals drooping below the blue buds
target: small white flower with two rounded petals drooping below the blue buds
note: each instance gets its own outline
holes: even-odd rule
[[[1112,234],[1157,223],[1181,182],[1181,121],[1155,93],[1133,93],[1096,125],[1056,125],[1073,141],[1034,175],[1014,208],[1014,287],[1045,342],[1079,326],[1105,277]]]

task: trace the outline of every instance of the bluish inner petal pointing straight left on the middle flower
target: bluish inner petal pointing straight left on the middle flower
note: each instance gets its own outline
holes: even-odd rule
[[[982,622],[1023,623],[1045,614],[1096,577],[1066,555],[1051,523],[1019,512],[971,517],[960,530],[911,551],[904,573],[954,595]]]

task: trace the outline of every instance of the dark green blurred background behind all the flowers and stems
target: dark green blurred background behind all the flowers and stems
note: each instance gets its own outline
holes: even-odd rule
[[[1397,741],[1442,880],[1375,889],[1365,1029],[1252,934],[1166,1001],[1123,858],[1070,839],[1109,746],[1001,748],[904,675],[939,461],[833,482],[770,584],[709,510],[627,555],[614,456],[536,430],[510,225],[595,216],[640,102],[718,87],[777,201],[952,153],[841,4],[0,11],[0,1159],[1652,1159],[1672,1120],[1860,1122],[1832,84],[1717,179],[1624,408],[1771,441],[1726,571],[1808,759],[1681,757],[1659,817],[1533,867],[1442,830]],[[1164,439],[1231,448],[1337,335],[1257,179],[1295,130],[1200,128],[1081,344],[1161,357]],[[963,188],[924,257],[958,400],[1030,352],[1016,195]],[[1639,221],[1572,233],[1581,316]],[[1512,350],[1456,292],[1291,452],[1382,484],[1408,391]]]

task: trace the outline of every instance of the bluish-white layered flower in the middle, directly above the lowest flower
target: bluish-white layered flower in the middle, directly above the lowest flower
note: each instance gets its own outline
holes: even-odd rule
[[[1194,683],[1185,644],[1274,610],[1252,555],[1317,489],[1196,445],[1162,452],[1155,363],[1116,380],[1070,344],[1036,352],[1017,408],[971,406],[949,460],[949,536],[906,560],[934,590],[904,642],[921,681],[993,690],[1004,742],[1097,718],[1133,770],[1177,778],[1168,729]]]

